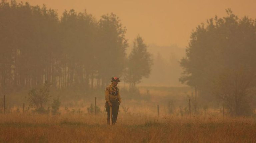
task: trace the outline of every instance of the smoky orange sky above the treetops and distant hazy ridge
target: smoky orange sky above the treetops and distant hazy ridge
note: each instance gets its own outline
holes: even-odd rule
[[[215,15],[223,17],[225,9],[256,18],[255,0],[25,0],[31,5],[46,4],[58,10],[75,9],[94,15],[97,19],[115,13],[127,28],[129,43],[140,34],[147,44],[179,47],[188,45],[191,31]],[[25,2],[23,0],[23,2]],[[20,2],[20,0],[17,0]]]

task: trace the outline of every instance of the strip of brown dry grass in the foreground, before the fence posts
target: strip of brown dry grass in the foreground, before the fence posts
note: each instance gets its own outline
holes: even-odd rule
[[[1,114],[0,142],[256,142],[254,118]]]

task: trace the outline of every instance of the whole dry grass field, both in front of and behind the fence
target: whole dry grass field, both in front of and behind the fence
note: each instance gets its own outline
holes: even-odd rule
[[[141,99],[122,101],[114,126],[106,124],[104,96],[97,98],[101,112],[96,116],[87,113],[94,97],[62,101],[61,114],[56,116],[34,114],[31,110],[20,113],[22,107],[16,106],[7,108],[7,114],[0,110],[0,143],[256,142],[255,117],[230,118],[228,114],[223,117],[221,108],[203,107],[195,114],[193,106],[192,116],[188,116],[185,107],[188,109],[190,88],[140,87],[140,93]],[[170,101],[174,103],[172,113],[169,113]]]

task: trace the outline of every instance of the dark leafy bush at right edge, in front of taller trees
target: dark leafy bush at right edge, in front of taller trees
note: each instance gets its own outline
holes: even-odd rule
[[[216,78],[213,93],[232,116],[253,114],[256,74],[253,69],[227,69]]]

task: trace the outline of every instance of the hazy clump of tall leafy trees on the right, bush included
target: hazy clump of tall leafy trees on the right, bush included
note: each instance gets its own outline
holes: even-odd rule
[[[186,57],[180,61],[180,81],[194,87],[201,101],[217,101],[233,116],[251,115],[256,93],[256,20],[226,11],[226,17],[208,19],[192,32]]]

